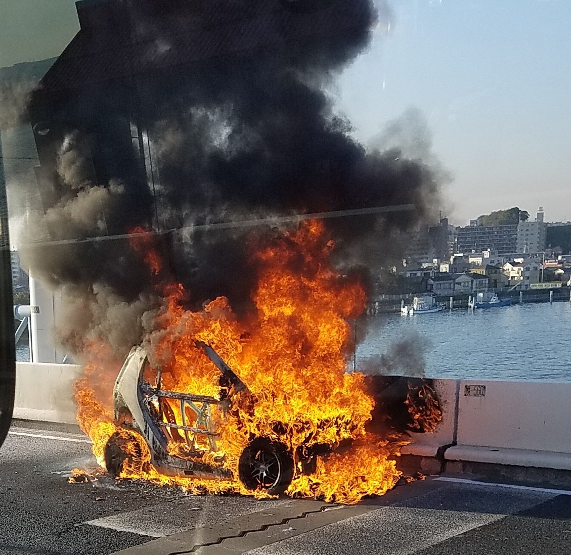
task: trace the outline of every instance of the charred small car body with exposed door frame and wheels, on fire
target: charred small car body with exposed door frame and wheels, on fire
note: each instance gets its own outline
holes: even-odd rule
[[[309,435],[304,445],[292,451],[286,427],[280,423],[273,426],[279,439],[250,434],[239,457],[237,476],[227,467],[218,445],[220,427],[238,396],[252,410],[256,399],[210,345],[198,341],[196,347],[220,371],[218,398],[164,390],[161,369],[151,368],[142,346],[133,347],[113,392],[118,431],[104,448],[108,473],[119,477],[125,465],[138,466],[140,471],[151,464],[166,476],[238,479],[247,489],[277,495],[286,491],[296,473],[315,472],[317,457],[331,452],[333,446],[316,443]],[[339,448],[347,441],[335,443]]]

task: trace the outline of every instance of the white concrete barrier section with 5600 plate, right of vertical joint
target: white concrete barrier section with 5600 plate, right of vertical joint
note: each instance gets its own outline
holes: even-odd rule
[[[571,383],[463,380],[445,459],[571,470]]]

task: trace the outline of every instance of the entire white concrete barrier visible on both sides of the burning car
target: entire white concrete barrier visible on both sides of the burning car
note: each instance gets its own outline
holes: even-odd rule
[[[75,364],[16,365],[14,418],[76,424]],[[423,468],[454,461],[571,471],[571,383],[435,380],[443,420],[401,449]],[[428,461],[428,463],[427,463]],[[430,462],[432,461],[432,462]]]

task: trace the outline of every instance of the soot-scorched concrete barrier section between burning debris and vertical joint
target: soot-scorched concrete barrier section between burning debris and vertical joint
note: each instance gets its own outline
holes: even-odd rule
[[[436,394],[443,410],[442,421],[433,434],[411,434],[412,443],[405,445],[401,454],[435,457],[440,447],[453,443],[458,385],[457,380],[434,380]]]

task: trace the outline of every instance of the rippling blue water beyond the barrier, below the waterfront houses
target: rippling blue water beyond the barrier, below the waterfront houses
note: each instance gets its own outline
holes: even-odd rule
[[[358,330],[365,337],[356,351],[357,370],[417,375],[424,367],[429,378],[571,382],[568,302],[380,314]]]

